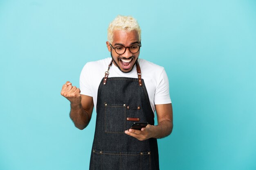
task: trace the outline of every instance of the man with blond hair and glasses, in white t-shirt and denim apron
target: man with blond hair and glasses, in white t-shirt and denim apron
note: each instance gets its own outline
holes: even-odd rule
[[[61,90],[70,100],[70,118],[78,129],[88,125],[96,106],[90,169],[157,170],[157,138],[166,137],[173,129],[166,72],[138,59],[141,30],[132,17],[118,15],[110,23],[106,45],[111,58],[85,64],[81,91],[69,81]],[[141,130],[129,129],[134,122],[148,125]]]

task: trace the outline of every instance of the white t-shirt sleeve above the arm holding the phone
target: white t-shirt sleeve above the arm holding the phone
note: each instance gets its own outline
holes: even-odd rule
[[[157,81],[157,88],[155,90],[154,103],[155,105],[171,103],[171,98],[169,93],[169,80],[164,69]]]

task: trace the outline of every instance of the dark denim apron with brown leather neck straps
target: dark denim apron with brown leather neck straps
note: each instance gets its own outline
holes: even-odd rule
[[[124,133],[133,122],[154,125],[138,61],[136,68],[138,78],[108,78],[106,71],[101,80],[90,170],[159,170],[157,139],[139,141]]]

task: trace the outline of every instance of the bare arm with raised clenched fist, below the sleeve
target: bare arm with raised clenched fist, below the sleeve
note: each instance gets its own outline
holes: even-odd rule
[[[75,126],[80,130],[85,129],[92,117],[92,97],[81,95],[80,89],[72,86],[69,81],[63,85],[61,95],[70,101],[70,118]]]

